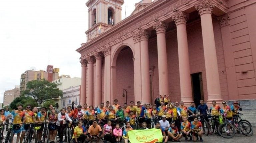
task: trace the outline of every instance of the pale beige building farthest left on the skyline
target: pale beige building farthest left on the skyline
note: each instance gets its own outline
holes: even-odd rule
[[[10,105],[13,100],[20,96],[20,88],[18,85],[15,86],[12,90],[7,90],[4,92],[4,106]]]

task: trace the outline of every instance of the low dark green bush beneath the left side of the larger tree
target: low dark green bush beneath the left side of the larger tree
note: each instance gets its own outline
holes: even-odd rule
[[[36,100],[32,97],[21,96],[13,100],[13,102],[10,104],[10,108],[17,109],[17,106],[20,104],[23,105],[23,108],[25,108],[27,105],[31,105],[31,107],[38,107]]]

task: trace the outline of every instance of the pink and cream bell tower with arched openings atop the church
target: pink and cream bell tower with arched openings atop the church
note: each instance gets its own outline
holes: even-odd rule
[[[85,32],[87,41],[106,32],[121,21],[124,0],[88,0],[88,30]]]

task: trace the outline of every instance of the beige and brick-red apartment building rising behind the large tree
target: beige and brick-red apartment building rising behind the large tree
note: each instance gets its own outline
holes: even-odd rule
[[[43,70],[27,70],[20,77],[20,94],[26,90],[27,82],[32,80],[45,79],[49,82],[57,80],[59,78],[59,68],[53,68],[52,65],[47,66],[46,72]]]

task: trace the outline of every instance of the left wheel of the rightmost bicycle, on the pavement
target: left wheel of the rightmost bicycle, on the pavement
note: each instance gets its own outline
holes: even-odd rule
[[[228,126],[230,126],[230,129],[228,129]],[[228,134],[228,131],[229,131],[229,134]],[[223,124],[219,125],[218,133],[219,133],[219,135],[221,135],[224,138],[232,138],[236,134],[236,129],[228,123],[227,123],[227,125],[225,123],[223,123]]]

